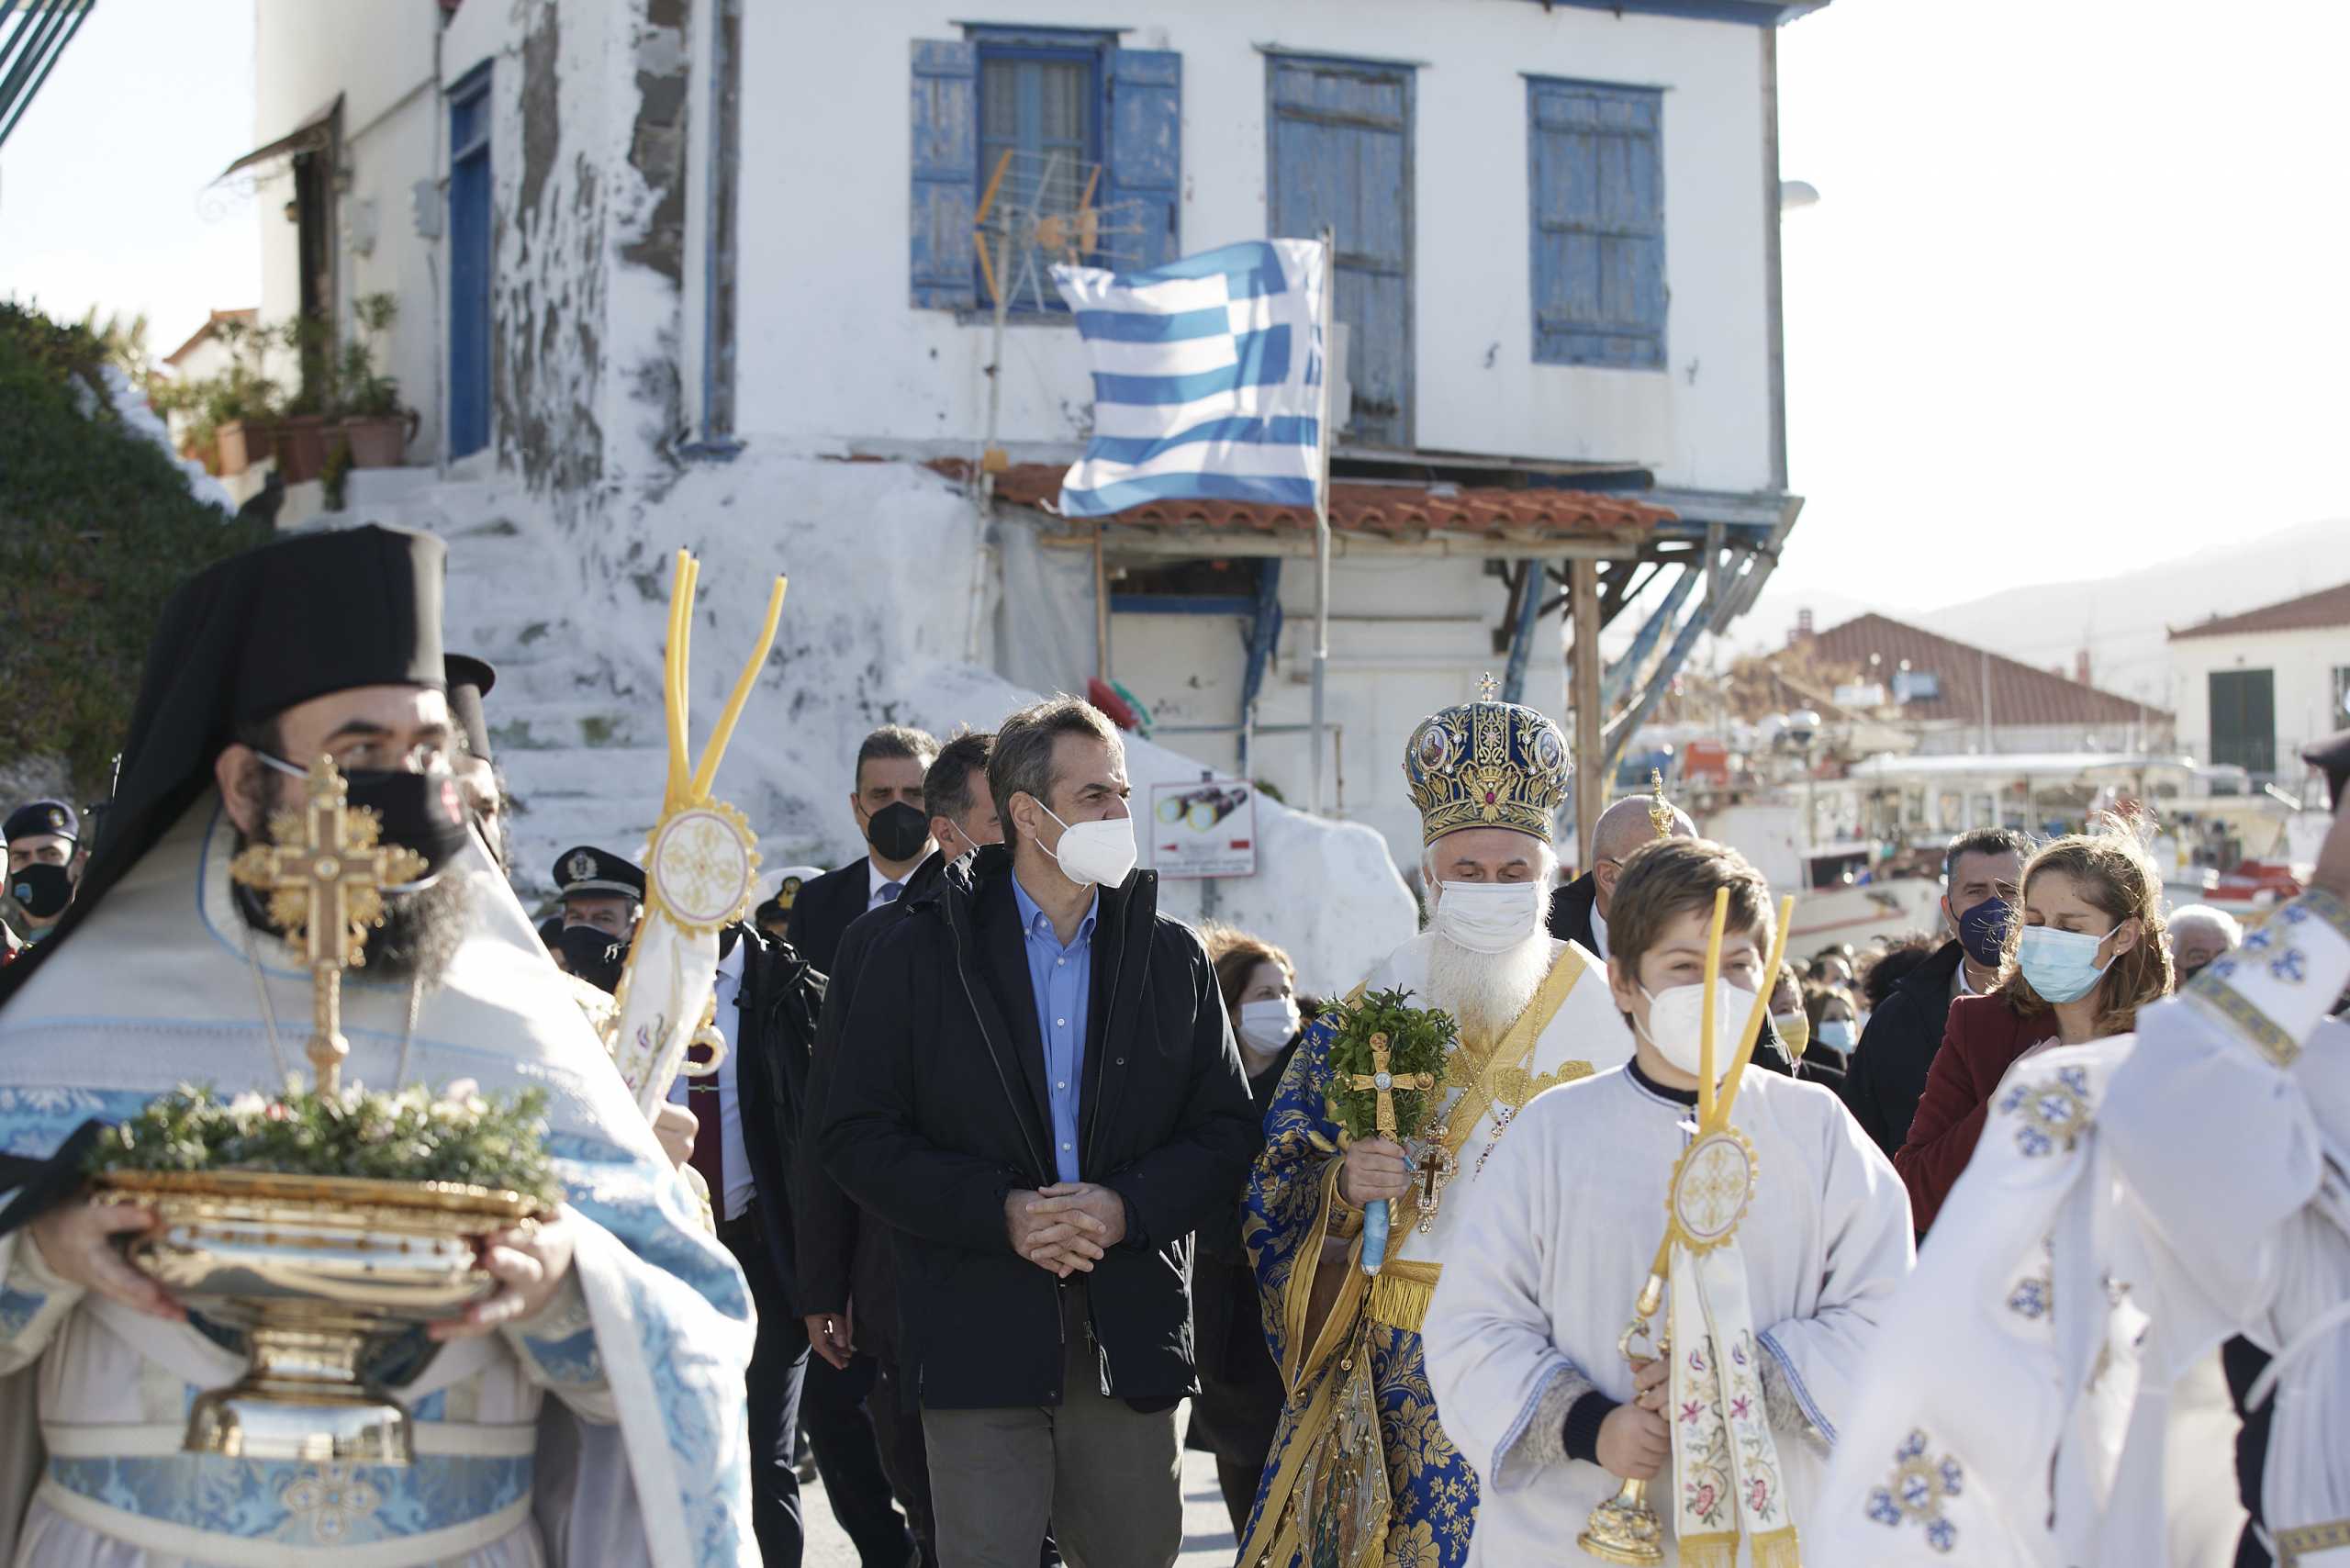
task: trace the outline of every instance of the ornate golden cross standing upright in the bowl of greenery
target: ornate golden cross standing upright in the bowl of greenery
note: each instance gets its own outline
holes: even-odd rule
[[[310,1074],[320,1093],[341,1086],[343,971],[367,964],[367,929],[383,924],[383,889],[425,875],[404,844],[378,844],[383,818],[350,804],[350,785],[320,757],[303,776],[298,809],[270,813],[270,844],[251,844],[228,875],[270,896],[270,922],[310,966]]]

